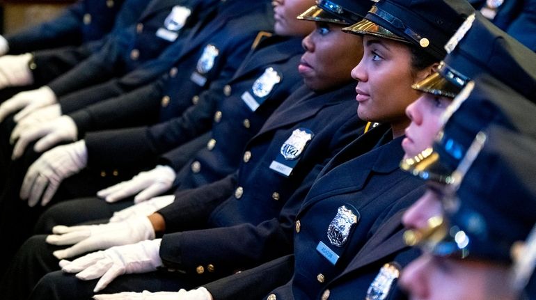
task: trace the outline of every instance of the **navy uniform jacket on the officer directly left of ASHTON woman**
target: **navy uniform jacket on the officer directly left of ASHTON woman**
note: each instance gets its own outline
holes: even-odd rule
[[[308,189],[321,166],[363,131],[354,87],[352,83],[321,95],[298,90],[301,97],[283,102],[246,145],[244,154],[251,156],[237,175],[175,194],[175,202],[159,211],[166,231],[176,232],[162,239],[164,265],[189,274],[211,265],[212,275],[223,276],[290,253],[292,239],[278,217],[295,214],[303,200],[288,201],[290,196]],[[286,177],[270,165],[296,129],[308,129],[314,136]],[[204,274],[199,276],[210,276]]]

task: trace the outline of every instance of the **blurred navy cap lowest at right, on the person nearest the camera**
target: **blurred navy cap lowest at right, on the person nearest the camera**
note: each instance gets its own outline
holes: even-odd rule
[[[536,222],[536,140],[498,125],[485,134],[457,188],[456,204],[446,212],[448,230],[432,253],[511,263],[512,246]]]

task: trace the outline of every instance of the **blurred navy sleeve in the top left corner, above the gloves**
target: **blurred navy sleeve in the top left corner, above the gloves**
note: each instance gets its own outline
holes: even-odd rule
[[[23,54],[82,42],[84,3],[78,1],[58,17],[19,33],[6,36],[9,54]]]

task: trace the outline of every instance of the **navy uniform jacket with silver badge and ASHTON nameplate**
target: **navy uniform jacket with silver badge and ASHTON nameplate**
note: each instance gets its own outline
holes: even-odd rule
[[[423,193],[422,180],[400,170],[402,137],[393,140],[388,127],[379,125],[360,136],[320,173],[296,216],[294,276],[272,292],[277,299],[320,299],[336,278],[350,271],[354,257],[374,235],[375,224]],[[357,221],[333,239],[330,225],[338,226],[343,206]],[[338,260],[327,259],[336,256]],[[351,298],[364,299],[365,292]]]

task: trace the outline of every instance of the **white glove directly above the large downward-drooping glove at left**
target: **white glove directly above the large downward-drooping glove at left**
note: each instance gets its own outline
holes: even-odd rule
[[[29,118],[28,116],[27,118]],[[44,124],[36,124],[24,130],[15,127],[11,134],[11,141],[17,140],[13,148],[11,159],[15,160],[24,154],[26,146],[39,139],[33,150],[43,152],[60,142],[76,141],[78,138],[78,127],[70,116],[61,116],[50,120]]]

